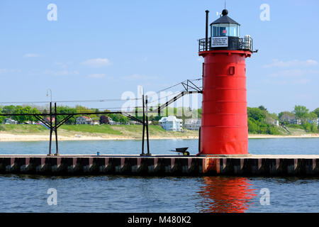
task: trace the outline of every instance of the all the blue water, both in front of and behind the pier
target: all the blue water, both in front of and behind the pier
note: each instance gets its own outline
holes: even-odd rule
[[[138,140],[62,141],[62,154],[138,154]],[[153,154],[197,140],[151,140]],[[319,138],[251,139],[252,154],[319,155]],[[43,154],[47,142],[1,142],[1,154]],[[47,189],[57,189],[49,206]],[[269,189],[262,205],[261,189]],[[262,199],[262,201],[264,201]],[[298,177],[43,177],[0,175],[0,212],[318,212],[319,178]]]

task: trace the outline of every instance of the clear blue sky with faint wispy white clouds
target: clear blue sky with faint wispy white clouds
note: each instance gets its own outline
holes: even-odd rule
[[[51,3],[57,21],[47,20]],[[1,0],[0,101],[48,101],[47,89],[54,100],[118,99],[138,85],[156,92],[199,78],[205,10],[212,22],[223,4]],[[270,21],[260,20],[261,4]],[[246,61],[248,106],[319,107],[319,2],[228,0],[226,8],[259,49]]]

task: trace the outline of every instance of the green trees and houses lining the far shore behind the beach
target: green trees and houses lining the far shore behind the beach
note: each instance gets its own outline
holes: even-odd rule
[[[150,109],[152,111],[153,109]],[[108,110],[105,110],[108,111]],[[141,111],[137,109],[137,111]],[[190,109],[189,107],[168,107],[164,109],[160,116],[157,114],[150,114],[149,120],[153,124],[158,124],[158,121],[162,116],[177,116],[177,118],[201,118],[201,109]],[[99,114],[99,109],[89,109],[85,106],[57,106],[58,114],[72,114],[72,113],[90,113],[84,116],[90,116],[94,121],[100,121],[100,123],[108,123],[108,118],[111,118],[115,122],[128,123],[130,118],[123,116],[122,114]],[[47,109],[43,106],[0,106],[0,114],[48,114]],[[280,134],[278,123],[280,126],[291,126],[294,128],[302,128],[306,131],[313,133],[318,132],[317,119],[319,116],[319,108],[309,111],[306,106],[296,105],[293,111],[282,111],[279,114],[271,114],[264,106],[259,107],[247,107],[247,123],[249,133],[257,134]],[[57,116],[57,121],[62,121],[65,116]],[[79,116],[73,116],[66,122],[67,124],[74,124],[76,118]],[[135,116],[142,120],[142,116]],[[8,117],[0,116],[0,123],[4,122],[4,119]],[[34,116],[12,116],[13,120],[18,123],[24,123],[27,121],[37,121]],[[295,120],[293,120],[295,119]]]

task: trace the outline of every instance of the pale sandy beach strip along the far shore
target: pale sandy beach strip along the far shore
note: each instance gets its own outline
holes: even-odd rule
[[[303,134],[303,135],[265,135],[265,134],[250,134],[250,139],[262,139],[262,138],[319,138],[319,134]],[[135,138],[129,136],[116,136],[116,135],[58,135],[60,141],[80,141],[80,140],[141,140],[142,138]],[[187,140],[198,139],[198,136],[178,136],[178,137],[156,137],[150,136],[150,140]],[[27,141],[48,141],[49,135],[37,135],[37,134],[13,134],[13,133],[0,133],[0,142],[27,142]],[[55,136],[52,137],[55,140]]]

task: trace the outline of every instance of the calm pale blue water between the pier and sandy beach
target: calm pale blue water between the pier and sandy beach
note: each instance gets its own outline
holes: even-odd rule
[[[59,152],[63,155],[94,154],[136,155],[141,153],[140,140],[96,140],[59,141]],[[40,142],[0,142],[0,154],[46,154],[49,143]],[[198,153],[198,140],[150,140],[150,153],[156,155],[177,155],[169,150],[189,147],[191,155]],[[146,151],[146,143],[145,143]],[[248,151],[263,155],[319,155],[319,138],[269,138],[250,139]],[[52,143],[55,153],[55,143]]]

